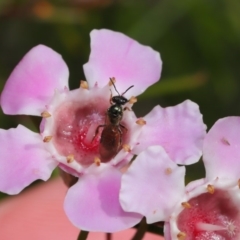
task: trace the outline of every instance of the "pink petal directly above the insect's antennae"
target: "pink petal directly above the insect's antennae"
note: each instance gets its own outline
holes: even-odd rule
[[[126,35],[106,29],[93,30],[91,54],[84,68],[89,86],[97,82],[103,87],[115,77],[120,94],[131,85],[125,96],[139,95],[157,82],[162,70],[158,52],[143,46]]]

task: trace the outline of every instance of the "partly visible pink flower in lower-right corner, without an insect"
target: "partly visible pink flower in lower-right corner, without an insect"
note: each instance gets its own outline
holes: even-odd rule
[[[162,147],[149,147],[122,177],[124,210],[146,216],[148,223],[165,221],[166,240],[239,239],[239,149],[240,118],[217,121],[203,143],[206,177],[184,187],[185,167]]]

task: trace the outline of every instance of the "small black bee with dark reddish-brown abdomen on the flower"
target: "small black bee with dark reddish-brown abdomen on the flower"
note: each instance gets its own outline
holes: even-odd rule
[[[121,149],[123,130],[127,131],[127,128],[120,122],[123,118],[123,111],[125,110],[123,109],[123,105],[129,101],[123,95],[133,87],[129,87],[120,95],[114,84],[114,78],[110,78],[110,81],[118,93],[118,96],[111,96],[111,106],[106,113],[106,123],[99,125],[95,131],[95,136],[97,136],[99,128],[103,128],[99,145],[99,154],[102,162],[110,161]]]

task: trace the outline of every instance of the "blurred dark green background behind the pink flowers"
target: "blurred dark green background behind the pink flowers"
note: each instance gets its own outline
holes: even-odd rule
[[[199,104],[208,129],[219,118],[240,115],[239,0],[1,0],[0,91],[39,43],[63,56],[70,87],[77,88],[95,28],[123,32],[161,53],[161,81],[139,97],[138,116],[185,99]],[[0,110],[0,128],[19,122],[36,131],[39,119]],[[187,181],[204,176],[201,162],[187,171]]]

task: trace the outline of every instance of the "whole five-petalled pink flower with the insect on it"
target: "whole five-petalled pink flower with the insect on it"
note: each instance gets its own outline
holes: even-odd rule
[[[75,226],[114,232],[138,223],[142,215],[124,212],[119,203],[120,168],[152,144],[162,144],[180,161],[197,161],[205,132],[198,107],[191,101],[167,109],[158,106],[144,118],[144,125],[128,102],[121,121],[127,128],[123,148],[110,159],[99,153],[101,134],[94,135],[105,123],[111,92],[118,95],[109,78],[116,79],[120,94],[134,85],[124,94],[130,99],[158,81],[161,65],[159,53],[150,47],[121,33],[94,30],[89,62],[83,67],[89,89],[82,83],[69,91],[68,68],[61,56],[42,45],[30,50],[10,75],[1,106],[6,114],[42,116],[43,120],[40,134],[22,125],[0,130],[0,191],[17,194],[36,179],[47,180],[59,166],[79,178],[64,203]]]

